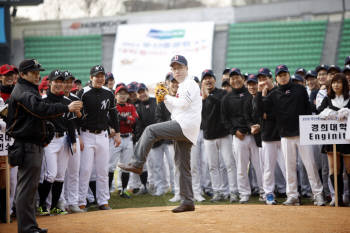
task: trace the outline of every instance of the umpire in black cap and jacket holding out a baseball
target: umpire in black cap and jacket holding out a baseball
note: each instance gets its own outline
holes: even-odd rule
[[[8,103],[7,134],[15,139],[9,154],[17,154],[18,165],[16,209],[19,233],[47,232],[40,229],[35,219],[35,194],[38,189],[43,146],[50,142],[46,119],[78,112],[80,101],[71,104],[44,103],[38,91],[41,65],[28,59],[19,65],[20,78]],[[18,152],[18,153],[15,153]],[[9,156],[10,157],[10,156]]]

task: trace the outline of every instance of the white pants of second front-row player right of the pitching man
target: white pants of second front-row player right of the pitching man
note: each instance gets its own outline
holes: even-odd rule
[[[260,192],[262,187],[262,174],[260,169],[259,149],[255,143],[252,135],[245,135],[243,140],[233,136],[233,145],[236,152],[237,162],[237,183],[238,191],[241,196],[249,196],[251,188],[248,178],[249,161],[253,164],[255,169],[256,179]]]

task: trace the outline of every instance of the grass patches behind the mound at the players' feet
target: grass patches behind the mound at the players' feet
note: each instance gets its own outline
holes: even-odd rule
[[[176,206],[179,205],[179,202],[170,202],[174,195],[172,193],[167,193],[162,196],[152,196],[150,194],[145,195],[132,195],[130,199],[121,198],[117,192],[111,194],[111,198],[109,200],[109,205],[113,209],[123,209],[123,208],[142,208],[142,207],[154,207],[154,206]],[[238,202],[230,203],[229,200],[212,203],[210,202],[210,197],[205,196],[206,200],[203,202],[196,202],[195,205],[239,205]],[[276,201],[279,205],[282,204],[286,199],[285,198],[276,198]],[[264,202],[259,201],[259,197],[251,196],[248,204],[260,204],[264,205]],[[302,199],[303,205],[313,205],[311,199]],[[89,211],[97,210],[96,207],[90,207]]]

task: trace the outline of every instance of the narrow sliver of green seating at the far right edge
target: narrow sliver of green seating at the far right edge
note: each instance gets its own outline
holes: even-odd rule
[[[344,19],[343,30],[340,36],[340,43],[338,46],[338,60],[340,67],[344,66],[345,57],[350,54],[350,19]]]

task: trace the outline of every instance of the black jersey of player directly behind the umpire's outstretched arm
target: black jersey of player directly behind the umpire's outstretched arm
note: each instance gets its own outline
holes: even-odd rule
[[[48,104],[62,103],[67,106],[72,102],[68,97],[52,94],[50,90],[47,92],[46,96],[43,96],[43,101]],[[74,114],[69,112],[63,114],[61,117],[50,120],[55,126],[55,132],[67,133],[71,143],[76,142],[75,127],[73,122],[74,118]]]

